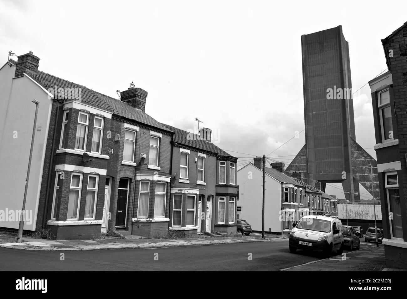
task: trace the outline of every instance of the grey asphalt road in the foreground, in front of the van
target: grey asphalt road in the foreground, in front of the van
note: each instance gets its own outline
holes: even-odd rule
[[[92,251],[0,248],[1,271],[278,271],[318,259],[318,253],[290,253],[288,241]]]

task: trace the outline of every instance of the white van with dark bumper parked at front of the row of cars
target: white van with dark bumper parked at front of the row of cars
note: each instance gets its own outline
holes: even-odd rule
[[[334,251],[342,254],[344,236],[341,220],[317,215],[302,217],[290,232],[289,249],[291,252],[297,249],[321,251],[325,257]]]

